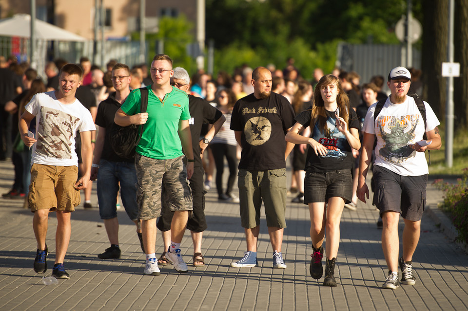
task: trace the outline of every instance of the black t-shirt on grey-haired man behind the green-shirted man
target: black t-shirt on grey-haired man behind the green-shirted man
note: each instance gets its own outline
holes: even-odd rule
[[[200,138],[203,123],[215,123],[223,113],[210,105],[206,100],[189,94],[190,132],[194,149],[195,167],[203,166],[200,157]]]

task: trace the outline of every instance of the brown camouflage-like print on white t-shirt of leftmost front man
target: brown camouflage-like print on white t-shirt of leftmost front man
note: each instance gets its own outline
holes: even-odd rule
[[[78,121],[78,117],[63,111],[41,107],[36,152],[46,157],[71,159]]]

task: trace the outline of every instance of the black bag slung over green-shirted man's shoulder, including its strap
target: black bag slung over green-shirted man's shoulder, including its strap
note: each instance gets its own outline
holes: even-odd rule
[[[140,112],[146,112],[148,107],[148,89],[140,88],[141,107]],[[132,159],[135,157],[135,149],[143,135],[143,125],[129,125],[121,127],[113,124],[111,128],[111,146],[114,152],[121,158]]]

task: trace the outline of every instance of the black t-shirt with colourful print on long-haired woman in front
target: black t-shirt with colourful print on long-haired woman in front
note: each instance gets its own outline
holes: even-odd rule
[[[300,113],[295,120],[307,127],[311,124],[312,106]],[[333,111],[327,111],[327,130],[326,133],[319,128],[319,122],[315,123],[311,137],[328,149],[326,156],[317,156],[313,148],[307,152],[306,169],[312,169],[314,172],[325,173],[338,169],[351,169],[352,154],[351,146],[346,140],[345,135],[336,128],[336,117]],[[350,109],[348,118],[349,128],[359,130],[359,121],[356,112]]]

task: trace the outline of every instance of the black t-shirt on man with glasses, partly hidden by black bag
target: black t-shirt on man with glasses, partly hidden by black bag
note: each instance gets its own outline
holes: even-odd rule
[[[123,103],[123,102],[122,102]],[[104,138],[104,144],[102,146],[101,159],[112,161],[112,162],[134,162],[134,158],[126,159],[119,157],[112,149],[111,146],[111,129],[114,123],[114,117],[121,104],[116,100],[116,92],[113,92],[103,100],[98,106],[98,114],[96,115],[96,125],[101,128],[105,128],[106,135]]]

